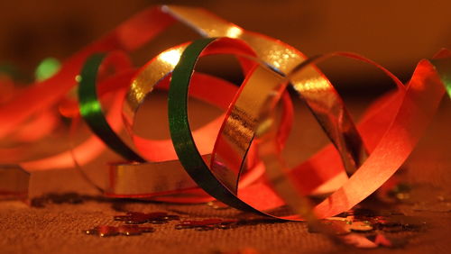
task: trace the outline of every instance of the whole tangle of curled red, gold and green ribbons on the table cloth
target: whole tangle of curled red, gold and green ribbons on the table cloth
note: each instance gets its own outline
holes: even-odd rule
[[[125,52],[139,48],[175,21],[206,39],[172,47],[143,68],[133,68]],[[239,88],[194,70],[199,58],[214,54],[238,59],[245,76]],[[382,69],[397,91],[382,96],[355,124],[334,86],[315,66],[332,57],[357,59]],[[115,73],[102,77],[110,65]],[[451,96],[450,65],[450,51],[441,50],[434,59],[420,61],[410,82],[403,85],[388,70],[351,53],[307,59],[281,41],[247,32],[202,9],[161,6],[121,24],[66,60],[56,75],[23,88],[0,107],[0,137],[5,139],[17,132],[17,126],[41,126],[39,120],[53,119],[43,128],[47,132],[28,141],[40,140],[65,128],[55,118],[55,106],[76,122],[73,108],[78,105],[68,94],[78,83],[79,114],[96,136],[86,135],[73,148],[55,147],[45,154],[36,152],[36,143],[14,138],[17,146],[0,153],[2,161],[31,171],[49,167],[86,171],[103,141],[125,160],[106,167],[109,182],[99,187],[106,195],[183,203],[205,202],[211,195],[245,211],[314,222],[352,208],[400,168],[442,96],[446,91]],[[331,141],[295,168],[287,168],[281,158],[293,116],[287,87],[308,105]],[[147,140],[133,131],[137,112],[154,88],[169,89],[171,140]],[[104,113],[100,98],[108,93],[115,93],[115,99]],[[189,96],[226,113],[192,132]],[[78,132],[74,126],[72,132]],[[128,138],[119,133],[122,129]],[[324,186],[333,193],[316,206],[309,204],[307,196]]]

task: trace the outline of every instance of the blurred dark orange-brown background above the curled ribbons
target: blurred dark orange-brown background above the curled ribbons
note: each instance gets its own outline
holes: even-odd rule
[[[161,4],[205,7],[247,30],[285,41],[308,56],[353,51],[381,63],[403,81],[419,59],[451,47],[449,0],[4,0],[0,1],[0,62],[32,73],[41,59],[65,59],[131,15]],[[169,41],[160,41],[159,47],[166,49],[183,40]],[[350,60],[332,60],[324,68],[345,93],[391,86],[372,67]]]

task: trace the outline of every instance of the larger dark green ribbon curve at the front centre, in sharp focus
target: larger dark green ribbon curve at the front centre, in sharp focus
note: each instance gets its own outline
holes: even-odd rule
[[[202,159],[189,127],[189,81],[200,53],[215,40],[216,38],[200,39],[189,44],[172,72],[168,95],[170,137],[180,163],[198,186],[225,204],[240,210],[262,214],[240,200],[213,175]]]

